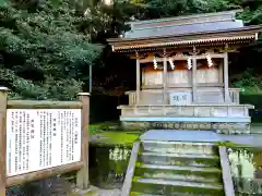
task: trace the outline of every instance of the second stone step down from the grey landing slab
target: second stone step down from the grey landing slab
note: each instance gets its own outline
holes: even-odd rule
[[[140,152],[138,161],[147,164],[160,166],[191,166],[221,168],[219,157],[215,155],[199,154],[167,154],[167,152]]]

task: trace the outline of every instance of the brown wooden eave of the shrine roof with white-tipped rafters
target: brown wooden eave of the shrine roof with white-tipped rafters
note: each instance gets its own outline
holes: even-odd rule
[[[108,39],[114,51],[135,50],[142,48],[170,47],[179,45],[202,45],[213,42],[239,42],[241,40],[255,40],[258,34],[262,33],[262,25],[247,26],[237,29],[214,30],[205,33],[193,33],[183,35],[170,35],[165,37],[151,38],[117,38]],[[248,41],[247,41],[248,42]]]

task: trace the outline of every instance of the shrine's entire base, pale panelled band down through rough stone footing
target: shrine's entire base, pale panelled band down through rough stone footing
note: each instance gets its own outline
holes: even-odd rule
[[[215,130],[250,134],[250,105],[120,106],[127,130]]]

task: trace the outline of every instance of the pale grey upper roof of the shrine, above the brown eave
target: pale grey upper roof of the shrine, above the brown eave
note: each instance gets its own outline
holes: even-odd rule
[[[243,27],[242,21],[235,19],[236,11],[196,14],[131,22],[131,30],[123,38],[140,39],[160,36],[177,36],[191,33],[236,29]]]

